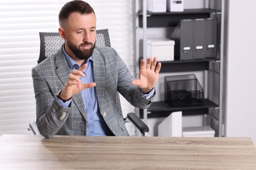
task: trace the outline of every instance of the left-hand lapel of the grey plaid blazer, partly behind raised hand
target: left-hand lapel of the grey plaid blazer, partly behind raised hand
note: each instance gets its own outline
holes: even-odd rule
[[[56,67],[55,73],[58,76],[58,78],[60,78],[60,81],[64,86],[68,80],[68,75],[70,75],[71,70],[68,65],[68,61],[66,60],[62,52],[62,48],[60,48],[60,50],[58,50],[56,54],[55,67]],[[84,116],[86,120],[85,105],[83,103],[83,97],[81,93],[77,93],[73,95],[72,100],[74,101],[74,104],[77,106],[77,108],[79,109],[79,111],[81,112],[81,114]]]

